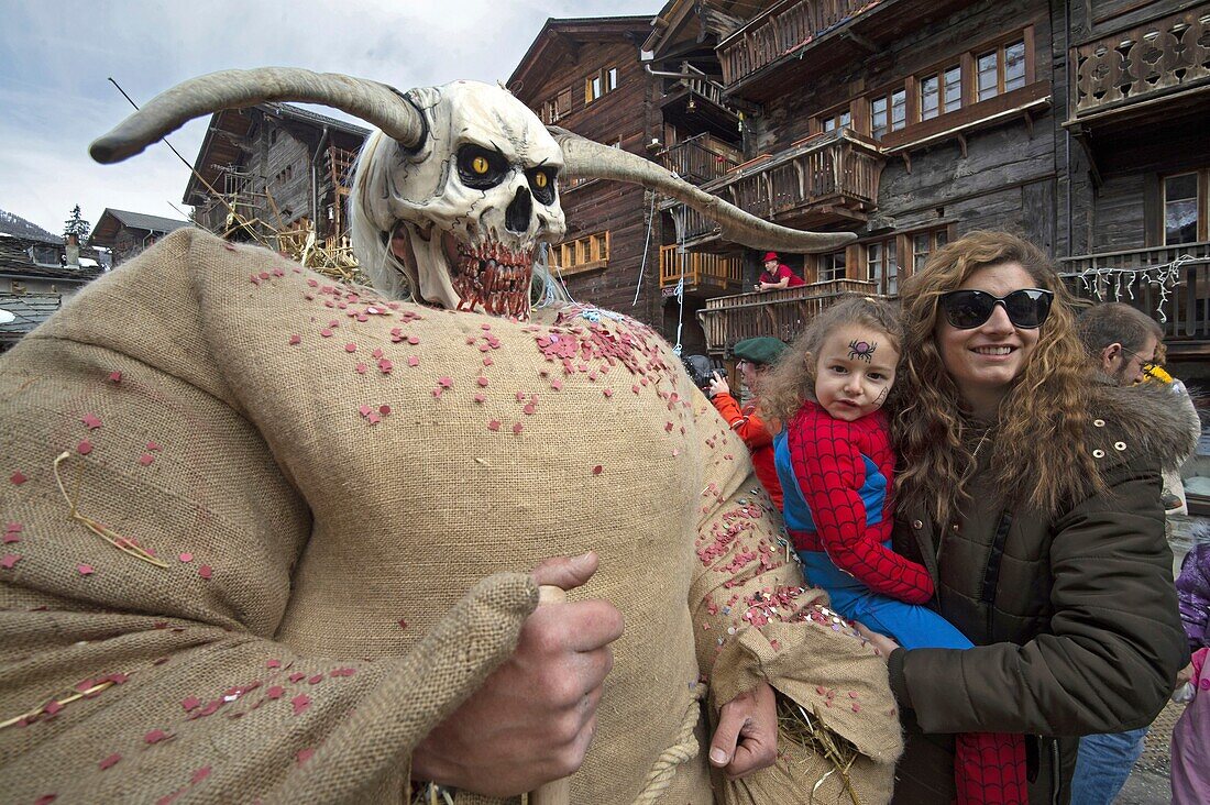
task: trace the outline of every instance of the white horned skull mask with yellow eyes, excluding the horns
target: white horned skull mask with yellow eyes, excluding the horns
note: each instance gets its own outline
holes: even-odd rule
[[[524,318],[534,251],[565,231],[563,151],[508,92],[473,81],[413,90],[428,137],[415,151],[378,138],[361,200],[419,283],[449,309]]]

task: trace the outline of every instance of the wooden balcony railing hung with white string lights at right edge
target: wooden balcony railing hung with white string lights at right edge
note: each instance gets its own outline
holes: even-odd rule
[[[1165,341],[1210,339],[1210,242],[1084,254],[1059,264],[1076,297],[1137,307],[1159,322]],[[1171,282],[1162,287],[1158,278]]]

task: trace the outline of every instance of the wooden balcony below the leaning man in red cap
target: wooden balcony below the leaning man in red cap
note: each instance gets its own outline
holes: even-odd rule
[[[877,289],[864,280],[832,280],[784,291],[716,297],[705,301],[697,317],[705,330],[707,349],[721,356],[745,338],[772,335],[794,340],[812,318],[846,293],[876,295]]]

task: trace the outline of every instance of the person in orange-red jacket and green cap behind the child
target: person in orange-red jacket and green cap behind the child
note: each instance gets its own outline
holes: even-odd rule
[[[727,420],[727,425],[731,425],[731,430],[748,445],[756,477],[760,478],[778,511],[782,511],[782,484],[777,479],[777,467],[773,466],[773,435],[765,425],[765,420],[756,414],[759,404],[756,396],[760,393],[761,376],[777,362],[783,350],[785,344],[776,338],[745,338],[732,347],[732,355],[739,358],[736,372],[743,379],[744,387],[753,393],[747,406],[741,407],[739,401],[731,395],[731,386],[718,372],[714,373],[707,390],[710,402]]]

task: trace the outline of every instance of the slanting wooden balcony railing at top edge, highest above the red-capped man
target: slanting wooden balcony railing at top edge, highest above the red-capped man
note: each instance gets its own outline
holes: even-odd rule
[[[732,86],[878,0],[788,0],[773,5],[719,47],[722,84]]]

